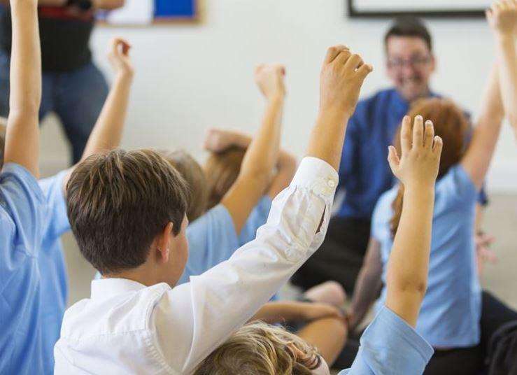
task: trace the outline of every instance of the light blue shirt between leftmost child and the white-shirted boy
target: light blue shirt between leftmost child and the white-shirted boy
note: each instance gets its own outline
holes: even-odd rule
[[[41,330],[45,374],[54,372],[54,346],[66,309],[68,283],[61,236],[69,232],[63,180],[68,171],[38,181],[47,204],[45,232],[38,255],[41,274]]]

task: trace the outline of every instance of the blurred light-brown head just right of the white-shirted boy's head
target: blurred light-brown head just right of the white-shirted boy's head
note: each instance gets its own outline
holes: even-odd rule
[[[207,181],[203,169],[192,156],[183,150],[160,151],[160,155],[171,163],[185,179],[190,190],[187,218],[190,222],[196,220],[203,215],[208,205]]]

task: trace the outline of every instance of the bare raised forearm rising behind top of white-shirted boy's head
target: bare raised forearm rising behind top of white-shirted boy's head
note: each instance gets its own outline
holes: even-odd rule
[[[90,134],[83,153],[83,160],[104,150],[113,150],[120,145],[122,131],[126,122],[127,106],[133,76],[119,73],[102,108],[99,120]]]

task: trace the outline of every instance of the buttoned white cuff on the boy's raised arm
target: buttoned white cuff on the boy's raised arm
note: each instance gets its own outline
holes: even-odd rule
[[[306,187],[325,200],[333,199],[339,182],[337,171],[318,157],[306,156],[299,164],[291,186]]]

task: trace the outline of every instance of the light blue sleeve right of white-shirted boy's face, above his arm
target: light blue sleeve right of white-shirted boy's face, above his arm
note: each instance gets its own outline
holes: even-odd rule
[[[218,204],[187,227],[189,255],[178,285],[187,283],[220,262],[228,260],[239,248],[234,221],[228,210]]]

